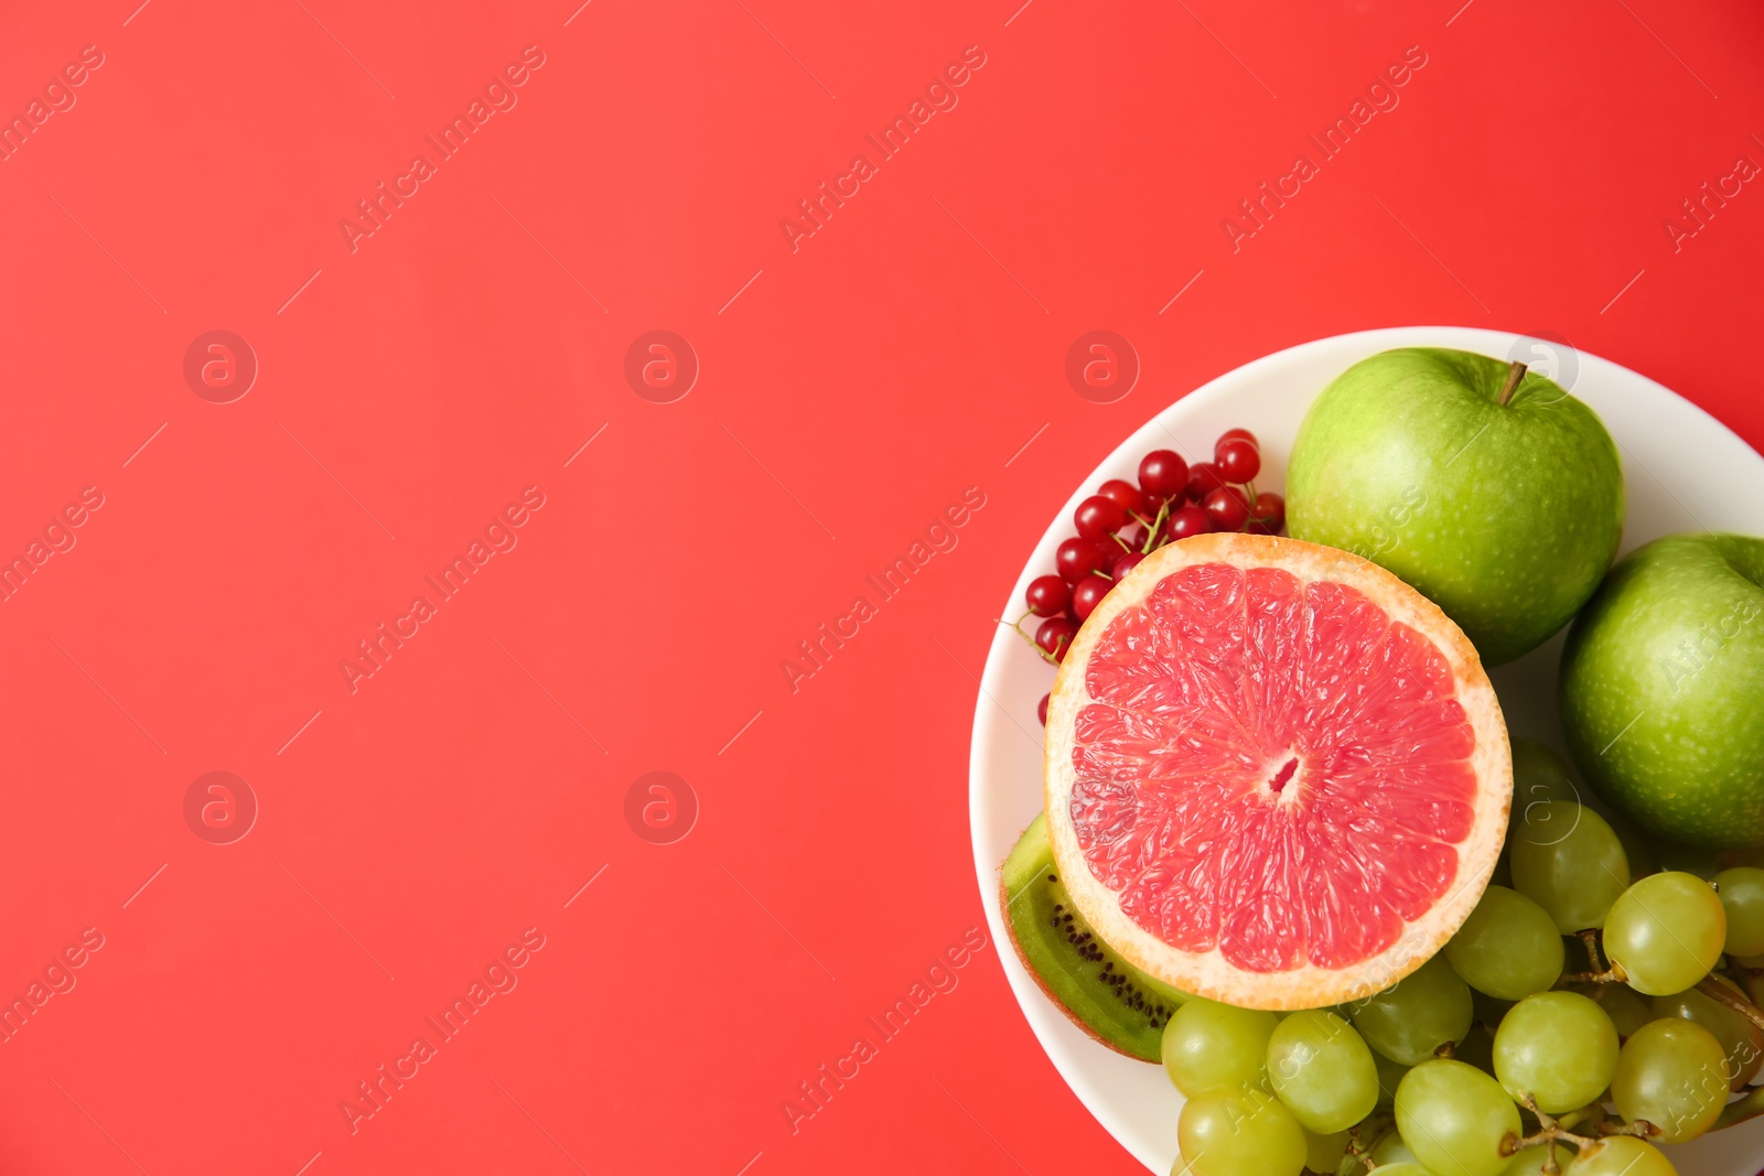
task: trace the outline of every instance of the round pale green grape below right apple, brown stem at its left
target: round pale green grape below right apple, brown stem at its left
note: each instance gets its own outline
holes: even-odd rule
[[[1725,942],[1722,899],[1708,882],[1681,871],[1642,878],[1611,904],[1605,920],[1605,956],[1648,996],[1695,986]]]

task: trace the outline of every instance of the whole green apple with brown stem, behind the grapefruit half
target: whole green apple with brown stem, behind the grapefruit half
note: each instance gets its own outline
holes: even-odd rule
[[[1360,360],[1311,406],[1286,524],[1408,580],[1499,665],[1565,626],[1611,568],[1623,467],[1556,381],[1402,347]]]

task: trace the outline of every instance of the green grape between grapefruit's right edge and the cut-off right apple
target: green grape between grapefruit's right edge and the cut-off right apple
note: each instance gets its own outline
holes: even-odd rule
[[[1573,800],[1528,804],[1514,837],[1514,889],[1563,934],[1605,926],[1630,885],[1630,860],[1603,816]]]

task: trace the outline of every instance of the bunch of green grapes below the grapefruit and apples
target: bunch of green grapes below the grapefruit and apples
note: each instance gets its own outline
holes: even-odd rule
[[[1522,760],[1549,765],[1515,748],[1499,882],[1418,970],[1177,1010],[1173,1176],[1672,1176],[1656,1144],[1764,1114],[1764,869],[1642,843]]]

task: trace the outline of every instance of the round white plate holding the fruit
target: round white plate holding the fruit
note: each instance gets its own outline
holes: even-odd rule
[[[1023,610],[1023,591],[1053,571],[1053,548],[1069,534],[1073,510],[1108,478],[1138,476],[1150,450],[1177,450],[1212,460],[1212,443],[1226,428],[1249,428],[1261,441],[1268,476],[1258,490],[1282,490],[1286,458],[1311,400],[1348,365],[1387,347],[1461,347],[1515,358],[1561,379],[1605,421],[1623,453],[1628,520],[1623,550],[1676,531],[1764,534],[1764,457],[1713,416],[1637,376],[1549,340],[1462,326],[1402,326],[1319,339],[1245,363],[1182,397],[1127,437],[1074,490],[1035,545],[1002,617]],[[1561,748],[1556,726],[1556,663],[1561,636],[1494,670],[1501,709],[1515,735]],[[1053,666],[998,626],[974,712],[968,765],[968,820],[974,867],[993,942],[1009,943],[998,912],[998,864],[1041,811],[1041,726],[1035,703],[1053,684]],[[1177,1158],[1182,1097],[1162,1067],[1124,1058],[1073,1026],[1035,987],[1013,952],[1000,952],[1023,1016],[1055,1068],[1102,1127],[1154,1172]],[[1764,1162],[1764,1120],[1671,1148],[1683,1176],[1755,1176]]]

